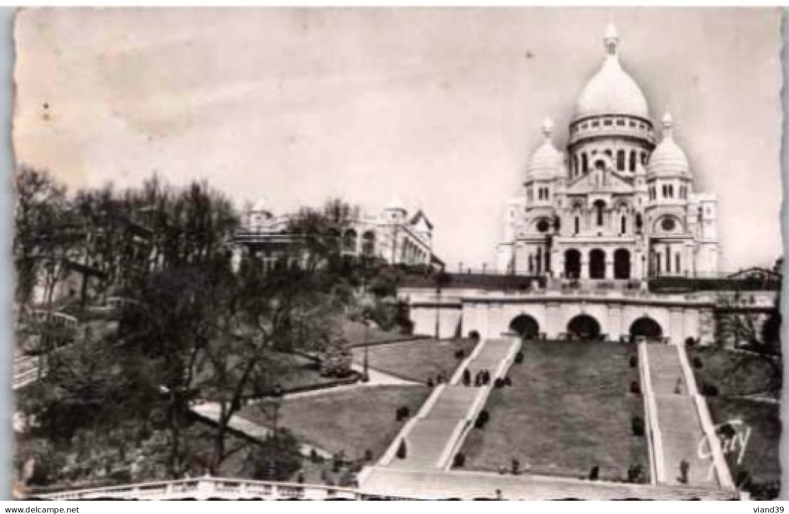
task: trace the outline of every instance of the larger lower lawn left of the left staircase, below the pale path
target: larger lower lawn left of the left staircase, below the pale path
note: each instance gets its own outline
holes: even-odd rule
[[[342,452],[347,459],[362,459],[370,450],[377,460],[405,423],[395,422],[395,410],[407,406],[414,415],[429,393],[423,385],[377,385],[286,397],[279,409],[279,426],[318,448]],[[256,405],[245,407],[241,415],[254,423],[271,423],[271,415]]]

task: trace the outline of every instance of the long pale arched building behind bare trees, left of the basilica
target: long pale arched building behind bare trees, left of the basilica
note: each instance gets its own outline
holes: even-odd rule
[[[409,209],[394,196],[383,210],[353,208],[349,214],[342,226],[330,227],[327,234],[343,255],[365,255],[389,264],[443,267],[433,253],[433,225],[423,210]],[[241,259],[242,251],[257,253],[264,263],[273,263],[282,255],[292,256],[299,240],[290,229],[294,215],[298,214],[274,214],[264,200],[249,208],[237,233],[236,259]]]

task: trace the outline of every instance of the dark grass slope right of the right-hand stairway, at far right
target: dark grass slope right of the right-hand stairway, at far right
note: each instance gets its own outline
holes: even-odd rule
[[[745,352],[717,348],[688,348],[699,385],[715,385],[718,395],[707,397],[713,423],[720,425],[741,420],[735,426],[741,437],[748,437],[745,449],[731,447],[727,461],[735,480],[743,473],[750,476],[750,490],[755,499],[772,499],[780,486],[780,404],[742,398],[765,391],[770,366]],[[763,394],[772,397],[775,395]],[[750,432],[749,432],[750,430]],[[742,450],[742,457],[741,457]],[[738,462],[739,460],[739,462]]]

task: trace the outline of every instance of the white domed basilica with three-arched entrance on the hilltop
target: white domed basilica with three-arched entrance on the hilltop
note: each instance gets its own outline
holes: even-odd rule
[[[671,115],[660,130],[653,123],[612,24],[603,41],[603,65],[578,97],[567,147],[555,147],[546,120],[507,202],[499,271],[611,281],[714,274],[716,198],[695,190]]]

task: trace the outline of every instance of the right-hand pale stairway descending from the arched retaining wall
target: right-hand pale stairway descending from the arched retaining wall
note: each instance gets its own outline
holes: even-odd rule
[[[674,345],[646,345],[667,484],[681,483],[680,465],[685,460],[690,465],[688,485],[718,487],[716,475],[711,472],[712,456],[708,455],[704,429],[694,398],[689,394],[678,349]]]

